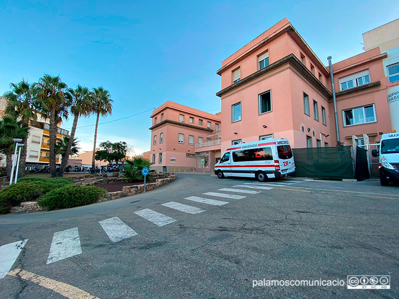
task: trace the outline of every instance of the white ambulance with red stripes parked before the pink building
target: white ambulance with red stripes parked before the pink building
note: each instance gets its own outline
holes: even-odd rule
[[[286,139],[261,140],[233,145],[223,152],[214,173],[224,176],[280,178],[295,172],[294,156]]]

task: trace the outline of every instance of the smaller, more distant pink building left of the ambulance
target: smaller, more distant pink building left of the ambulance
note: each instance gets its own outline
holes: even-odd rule
[[[167,101],[151,118],[151,168],[209,171],[220,158],[219,115]]]

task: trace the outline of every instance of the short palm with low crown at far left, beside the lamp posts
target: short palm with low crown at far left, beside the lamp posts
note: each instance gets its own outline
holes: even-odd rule
[[[27,139],[29,127],[24,126],[22,121],[17,121],[12,117],[3,117],[0,120],[0,151],[5,154],[6,157],[6,172],[7,177],[11,175],[11,159],[14,152],[15,143],[13,138],[19,136],[23,139]]]

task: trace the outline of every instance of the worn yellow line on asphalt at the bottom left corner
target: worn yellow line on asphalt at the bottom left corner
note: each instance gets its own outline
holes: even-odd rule
[[[31,272],[27,272],[22,269],[14,269],[14,270],[8,272],[7,275],[13,276],[13,277],[19,277],[28,282],[37,284],[43,288],[52,290],[66,298],[69,298],[69,299],[99,299],[99,298],[92,296],[89,293],[87,293],[83,290],[80,290],[78,288],[75,288],[71,285],[57,282],[50,278],[46,278],[46,277],[31,273]]]

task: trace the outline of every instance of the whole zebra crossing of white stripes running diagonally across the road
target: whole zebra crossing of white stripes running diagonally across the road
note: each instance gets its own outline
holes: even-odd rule
[[[229,203],[228,201],[225,201],[226,198],[231,200],[240,200],[246,198],[248,195],[256,195],[258,193],[261,193],[263,190],[273,189],[273,186],[291,185],[295,183],[298,182],[242,183],[232,185],[230,187],[220,188],[217,190],[218,192],[211,191],[202,193],[201,196],[188,196],[185,197],[184,200],[192,203],[198,202],[202,204],[208,204],[210,206],[220,207]],[[163,203],[162,206],[192,215],[200,214],[206,211],[199,207],[176,201]],[[162,227],[178,221],[178,219],[172,218],[168,215],[159,213],[149,208],[135,211],[134,214],[144,218],[145,220],[158,227]],[[125,239],[133,238],[134,236],[139,234],[118,217],[104,219],[98,221],[98,223],[112,243],[117,243]],[[27,239],[20,240],[0,246],[0,279],[7,275],[27,241]],[[82,246],[79,237],[79,230],[77,227],[55,232],[51,241],[46,264],[59,262],[80,254],[82,254]]]

